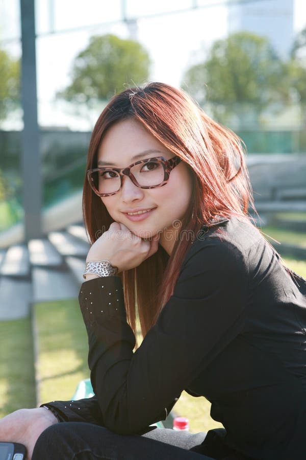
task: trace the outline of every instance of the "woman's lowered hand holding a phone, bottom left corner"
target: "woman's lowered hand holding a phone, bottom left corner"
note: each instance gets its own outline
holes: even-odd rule
[[[20,443],[31,460],[36,441],[48,426],[58,423],[53,413],[44,408],[19,409],[0,420],[0,441]]]

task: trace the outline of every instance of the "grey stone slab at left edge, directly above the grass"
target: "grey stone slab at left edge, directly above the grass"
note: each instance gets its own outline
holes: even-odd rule
[[[30,281],[11,277],[0,278],[0,320],[27,317],[31,301]]]

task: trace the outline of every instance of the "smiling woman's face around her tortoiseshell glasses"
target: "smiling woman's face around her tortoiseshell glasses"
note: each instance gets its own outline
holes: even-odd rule
[[[170,159],[174,154],[138,121],[130,118],[109,128],[98,149],[97,162],[98,166],[124,168],[139,159],[155,156]],[[103,162],[103,165],[99,162]],[[171,171],[169,180],[163,187],[141,189],[129,177],[124,176],[122,188],[115,195],[101,197],[101,200],[111,217],[116,222],[123,223],[135,235],[149,238],[160,233],[160,244],[170,254],[177,221],[184,217],[191,193],[191,174],[186,164],[181,162]],[[134,216],[128,214],[138,211],[146,212]]]

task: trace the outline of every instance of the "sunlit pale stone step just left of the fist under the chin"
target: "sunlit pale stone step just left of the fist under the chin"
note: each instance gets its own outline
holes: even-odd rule
[[[62,256],[87,256],[89,244],[68,232],[50,232],[48,238]]]

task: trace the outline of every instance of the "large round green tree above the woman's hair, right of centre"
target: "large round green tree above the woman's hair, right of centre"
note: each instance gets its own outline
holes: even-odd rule
[[[240,126],[258,123],[260,114],[283,100],[284,64],[265,37],[239,32],[217,40],[205,62],[186,72],[183,84],[199,102],[209,103],[223,123],[236,116]]]

